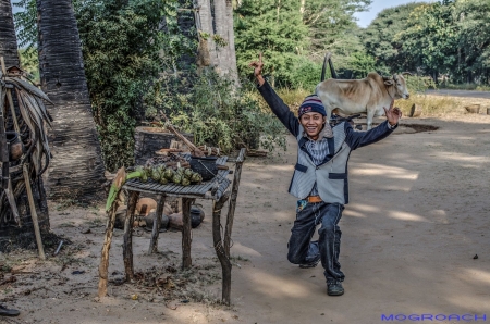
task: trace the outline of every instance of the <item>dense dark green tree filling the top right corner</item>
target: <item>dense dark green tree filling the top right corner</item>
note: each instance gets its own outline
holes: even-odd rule
[[[411,3],[382,11],[364,32],[364,43],[381,71],[488,84],[489,21],[488,0]]]

